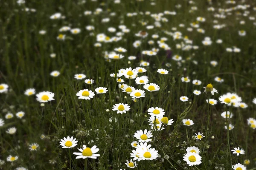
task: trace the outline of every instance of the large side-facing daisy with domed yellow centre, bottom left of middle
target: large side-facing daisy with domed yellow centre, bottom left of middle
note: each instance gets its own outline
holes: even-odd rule
[[[74,155],[78,155],[76,156],[76,159],[86,159],[86,158],[92,158],[92,159],[97,159],[97,157],[100,156],[100,154],[96,154],[99,151],[99,148],[96,147],[96,145],[94,145],[93,147],[86,147],[85,145],[83,145],[82,148],[78,149],[80,152],[74,152]]]

